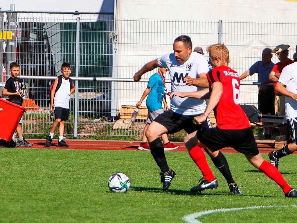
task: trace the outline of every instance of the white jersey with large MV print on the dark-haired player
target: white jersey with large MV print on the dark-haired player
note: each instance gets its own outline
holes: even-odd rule
[[[203,55],[192,52],[183,65],[177,62],[174,53],[165,54],[157,60],[160,67],[168,68],[171,79],[171,92],[192,92],[203,89],[193,85],[189,86],[184,81],[185,76],[198,78],[200,73],[208,72],[208,62]],[[173,97],[170,100],[170,109],[178,114],[197,116],[202,114],[205,108],[205,100],[197,98]]]

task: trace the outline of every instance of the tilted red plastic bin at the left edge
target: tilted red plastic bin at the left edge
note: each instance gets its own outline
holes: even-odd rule
[[[0,139],[10,141],[26,109],[0,98]]]

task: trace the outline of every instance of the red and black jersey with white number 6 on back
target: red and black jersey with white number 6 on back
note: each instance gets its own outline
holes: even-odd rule
[[[214,82],[223,85],[223,93],[219,103],[214,108],[214,116],[219,129],[244,129],[249,128],[247,115],[239,105],[240,78],[235,70],[227,66],[215,67],[207,73],[209,92]]]

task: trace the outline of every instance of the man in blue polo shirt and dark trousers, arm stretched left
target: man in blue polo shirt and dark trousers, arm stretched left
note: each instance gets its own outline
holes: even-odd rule
[[[240,80],[246,78],[249,75],[258,73],[258,82],[263,85],[259,85],[258,90],[258,109],[262,114],[274,115],[274,90],[273,86],[264,84],[271,83],[269,81],[269,73],[271,72],[274,63],[271,62],[272,54],[270,48],[265,48],[262,52],[262,60],[255,62],[249,70],[245,71],[241,76]],[[272,128],[267,128],[265,133],[265,139],[270,139]]]

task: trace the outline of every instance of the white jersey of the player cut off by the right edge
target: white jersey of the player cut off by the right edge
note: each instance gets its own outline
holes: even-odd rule
[[[278,80],[286,85],[286,89],[294,94],[297,94],[297,62],[287,65],[283,70]],[[297,117],[297,101],[291,97],[285,97],[285,114],[286,119]]]

